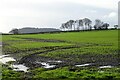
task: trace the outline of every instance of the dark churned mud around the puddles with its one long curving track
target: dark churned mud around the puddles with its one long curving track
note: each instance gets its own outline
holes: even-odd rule
[[[65,47],[65,48],[59,48],[59,49],[70,49],[75,47]],[[118,57],[118,54],[80,54],[80,55],[68,55],[67,57],[63,58],[52,58],[52,57],[45,57],[40,56],[39,54],[47,54],[48,52],[52,52],[59,49],[51,49],[43,52],[38,52],[31,54],[29,56],[23,57],[21,60],[19,60],[19,64],[25,63],[27,67],[30,68],[36,68],[41,67],[41,64],[36,63],[38,62],[46,62],[49,64],[55,64],[56,67],[63,67],[63,66],[75,66],[80,64],[86,64],[86,63],[92,63],[91,66],[104,66],[104,65],[111,65],[111,66],[119,66],[120,65],[120,58]],[[68,58],[68,59],[67,59]],[[78,58],[79,60],[76,60]],[[57,62],[48,62],[48,61],[62,61],[62,63]]]

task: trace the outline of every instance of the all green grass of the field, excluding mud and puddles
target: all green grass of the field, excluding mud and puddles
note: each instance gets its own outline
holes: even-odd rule
[[[41,41],[41,39],[43,41]],[[18,58],[48,51],[44,54],[37,54],[37,56],[41,58],[49,57],[52,59],[67,60],[72,63],[79,62],[81,64],[99,61],[111,61],[112,63],[112,60],[119,59],[118,30],[3,35],[2,40],[3,54],[13,54]],[[11,75],[11,77],[23,75],[23,73],[17,72],[8,74],[9,71],[11,72],[12,70],[3,67],[4,78],[9,75]],[[29,71],[31,74],[25,74],[28,78],[84,78],[91,80],[99,80],[99,78],[105,78],[105,80],[114,78],[114,80],[116,80],[116,78],[120,78],[119,66],[110,69],[72,66],[71,69],[71,66],[68,65],[53,70],[34,68]],[[102,71],[104,72],[102,73]]]

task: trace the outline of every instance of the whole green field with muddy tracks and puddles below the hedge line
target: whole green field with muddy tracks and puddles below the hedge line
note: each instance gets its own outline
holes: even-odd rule
[[[3,79],[120,78],[117,30],[3,35],[2,38]],[[13,60],[5,63],[8,56],[4,55]]]

